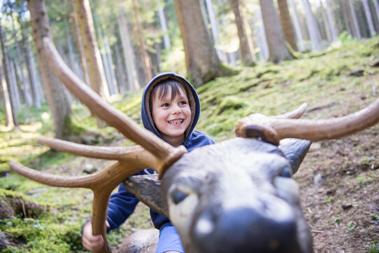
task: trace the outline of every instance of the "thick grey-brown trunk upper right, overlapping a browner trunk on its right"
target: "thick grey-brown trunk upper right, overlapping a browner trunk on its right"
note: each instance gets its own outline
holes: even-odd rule
[[[264,31],[269,45],[269,60],[274,63],[294,59],[285,44],[285,37],[278,13],[272,0],[259,0],[262,9]]]

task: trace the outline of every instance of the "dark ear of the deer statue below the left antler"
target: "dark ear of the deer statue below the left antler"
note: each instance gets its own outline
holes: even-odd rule
[[[142,203],[155,212],[169,217],[169,210],[162,196],[161,180],[158,179],[157,174],[136,175],[129,177],[122,184]]]

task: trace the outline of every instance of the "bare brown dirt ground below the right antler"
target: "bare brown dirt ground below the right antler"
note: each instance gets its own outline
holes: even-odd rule
[[[376,127],[310,147],[294,178],[315,252],[378,252],[378,146]]]

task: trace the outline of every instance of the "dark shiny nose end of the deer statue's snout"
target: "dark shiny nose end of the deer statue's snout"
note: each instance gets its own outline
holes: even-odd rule
[[[196,219],[192,229],[198,252],[206,253],[296,253],[296,217],[285,201],[261,198],[249,205],[232,200],[213,205]]]

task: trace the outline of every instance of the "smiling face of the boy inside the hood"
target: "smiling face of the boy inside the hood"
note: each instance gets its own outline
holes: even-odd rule
[[[152,95],[152,120],[162,137],[173,146],[180,145],[185,139],[185,130],[191,122],[191,109],[183,90],[171,97],[171,87],[164,97],[157,92]]]

